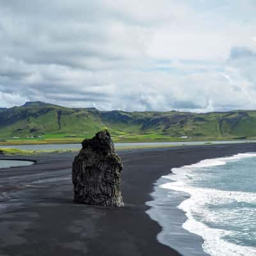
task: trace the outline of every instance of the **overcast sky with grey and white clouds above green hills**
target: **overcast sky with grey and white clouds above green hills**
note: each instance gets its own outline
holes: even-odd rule
[[[0,107],[256,109],[255,0],[0,0]]]

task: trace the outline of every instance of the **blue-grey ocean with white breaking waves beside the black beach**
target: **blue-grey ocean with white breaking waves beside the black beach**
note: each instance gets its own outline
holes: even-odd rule
[[[173,168],[157,181],[152,195],[148,214],[163,227],[157,236],[161,243],[185,256],[256,255],[256,153]],[[177,243],[182,234],[171,216],[177,198],[174,207],[186,214],[182,228],[202,237],[204,252],[194,252],[186,239]]]

